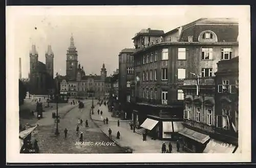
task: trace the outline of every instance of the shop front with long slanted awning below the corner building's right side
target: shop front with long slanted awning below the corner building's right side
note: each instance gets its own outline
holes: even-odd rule
[[[182,137],[182,149],[193,153],[202,153],[209,142],[210,136],[184,128],[179,132]]]

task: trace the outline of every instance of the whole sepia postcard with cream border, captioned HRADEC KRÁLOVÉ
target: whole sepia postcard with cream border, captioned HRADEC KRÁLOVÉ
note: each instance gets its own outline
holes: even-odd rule
[[[7,6],[8,163],[249,162],[249,6]]]

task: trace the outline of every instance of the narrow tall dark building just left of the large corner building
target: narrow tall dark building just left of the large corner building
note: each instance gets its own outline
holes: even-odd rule
[[[131,83],[134,81],[134,56],[133,48],[124,48],[119,53],[119,79],[118,79],[118,100],[121,103],[122,110],[126,113],[126,118],[131,119]],[[115,87],[115,88],[117,88]]]

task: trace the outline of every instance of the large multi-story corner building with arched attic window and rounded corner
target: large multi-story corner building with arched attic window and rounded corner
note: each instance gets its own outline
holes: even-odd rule
[[[133,39],[139,78],[133,121],[137,126],[144,121],[143,125],[152,125],[144,127],[159,138],[172,137],[170,132],[175,135],[182,129],[184,78],[195,77],[191,73],[214,76],[220,60],[238,56],[238,22],[232,18],[201,18],[165,34],[142,30]]]

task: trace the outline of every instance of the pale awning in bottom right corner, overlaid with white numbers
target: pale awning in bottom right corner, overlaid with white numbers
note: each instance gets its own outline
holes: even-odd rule
[[[236,146],[217,141],[215,139],[210,139],[203,153],[232,153]]]

